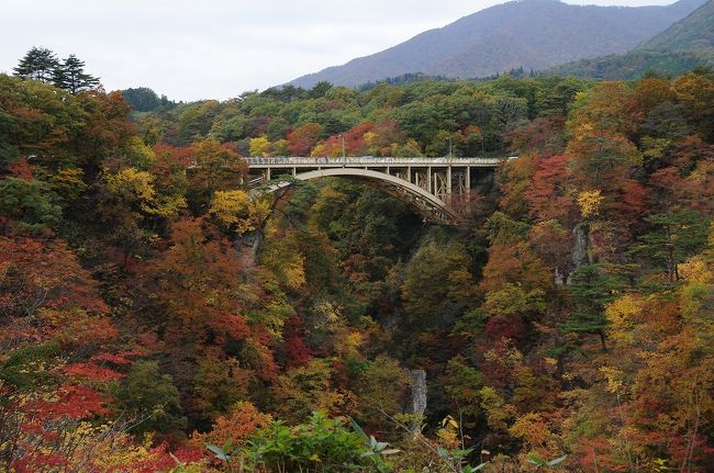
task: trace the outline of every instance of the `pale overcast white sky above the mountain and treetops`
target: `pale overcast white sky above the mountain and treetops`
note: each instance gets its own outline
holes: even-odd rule
[[[386,49],[502,0],[0,0],[0,71],[32,46],[107,90],[227,99]],[[668,4],[672,0],[568,0]]]

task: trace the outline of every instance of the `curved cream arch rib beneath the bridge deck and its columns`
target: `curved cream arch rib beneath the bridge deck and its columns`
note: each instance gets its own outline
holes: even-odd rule
[[[429,222],[443,225],[453,225],[458,219],[458,215],[449,209],[446,202],[438,199],[436,195],[416,184],[386,172],[345,167],[319,169],[298,172],[294,174],[294,179],[300,181],[330,177],[347,178],[375,185],[389,195],[411,204],[425,219]],[[289,181],[280,181],[269,188],[268,192],[277,191],[278,189],[282,189],[290,184],[291,182]]]

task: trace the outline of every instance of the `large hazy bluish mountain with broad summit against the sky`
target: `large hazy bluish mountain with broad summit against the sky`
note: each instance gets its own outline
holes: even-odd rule
[[[638,8],[512,1],[290,83],[309,88],[328,81],[356,87],[409,72],[473,78],[520,67],[539,70],[583,57],[625,53],[704,1]]]

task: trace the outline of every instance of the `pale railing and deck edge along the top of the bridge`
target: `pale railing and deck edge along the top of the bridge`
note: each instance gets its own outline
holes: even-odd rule
[[[507,158],[393,158],[375,156],[356,157],[272,157],[272,158],[245,158],[248,166],[498,166]]]

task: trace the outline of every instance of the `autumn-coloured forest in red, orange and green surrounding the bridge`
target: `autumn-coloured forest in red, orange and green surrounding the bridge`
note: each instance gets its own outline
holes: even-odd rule
[[[506,76],[140,112],[0,75],[0,470],[714,470],[712,91]],[[243,156],[341,134],[518,158],[454,227],[350,181],[242,187]]]

